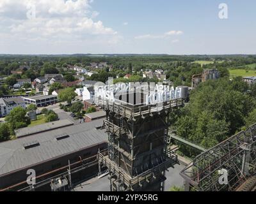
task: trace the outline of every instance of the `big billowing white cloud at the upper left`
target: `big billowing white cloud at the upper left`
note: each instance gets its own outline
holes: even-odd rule
[[[9,34],[8,40],[35,39],[47,41],[116,42],[120,38],[111,27],[93,20],[99,12],[93,11],[92,0],[1,0],[0,34]],[[29,19],[28,11],[35,6],[36,18]],[[7,39],[4,39],[7,40]],[[93,43],[93,42],[92,42]]]

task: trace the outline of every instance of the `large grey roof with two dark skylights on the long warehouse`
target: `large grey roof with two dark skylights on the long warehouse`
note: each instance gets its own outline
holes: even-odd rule
[[[54,129],[16,140],[0,143],[0,177],[6,173],[27,168],[38,163],[60,157],[72,152],[107,142],[108,135],[102,126],[103,120],[94,120],[75,126]],[[60,135],[68,135],[62,140],[56,140]],[[28,149],[24,145],[38,144]]]

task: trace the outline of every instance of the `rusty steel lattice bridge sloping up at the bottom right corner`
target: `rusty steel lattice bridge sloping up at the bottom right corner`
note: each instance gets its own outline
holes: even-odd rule
[[[221,170],[227,172],[226,183],[220,182]],[[180,175],[186,191],[255,189],[256,124],[196,156]]]

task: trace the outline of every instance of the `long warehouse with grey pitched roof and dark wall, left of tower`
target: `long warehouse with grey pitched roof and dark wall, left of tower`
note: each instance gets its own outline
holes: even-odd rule
[[[61,168],[68,165],[68,160],[72,164],[97,155],[107,148],[102,124],[102,119],[94,120],[0,143],[0,190],[27,187],[28,170],[35,170],[38,183],[67,171]],[[97,168],[95,165],[81,175],[86,177],[97,172]],[[72,180],[76,180],[73,175]]]

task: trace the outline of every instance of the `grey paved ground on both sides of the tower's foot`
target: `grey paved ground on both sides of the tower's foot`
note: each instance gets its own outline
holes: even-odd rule
[[[180,177],[179,173],[184,168],[182,164],[176,164],[175,168],[169,168],[166,171],[166,181],[164,191],[169,191],[170,187],[181,187],[184,184],[184,179]],[[98,179],[97,177],[87,180],[74,188],[74,191],[109,191],[108,175]]]

